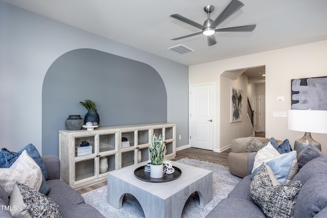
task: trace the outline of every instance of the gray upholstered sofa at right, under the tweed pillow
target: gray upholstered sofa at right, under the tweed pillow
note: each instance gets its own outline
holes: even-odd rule
[[[248,155],[248,176],[244,177],[228,197],[223,199],[206,217],[266,217],[261,208],[254,203],[250,194],[252,181],[250,175],[255,155],[256,153]],[[305,163],[291,182],[297,180],[301,182],[302,187],[294,205],[294,217],[327,217],[327,155],[316,157]]]

